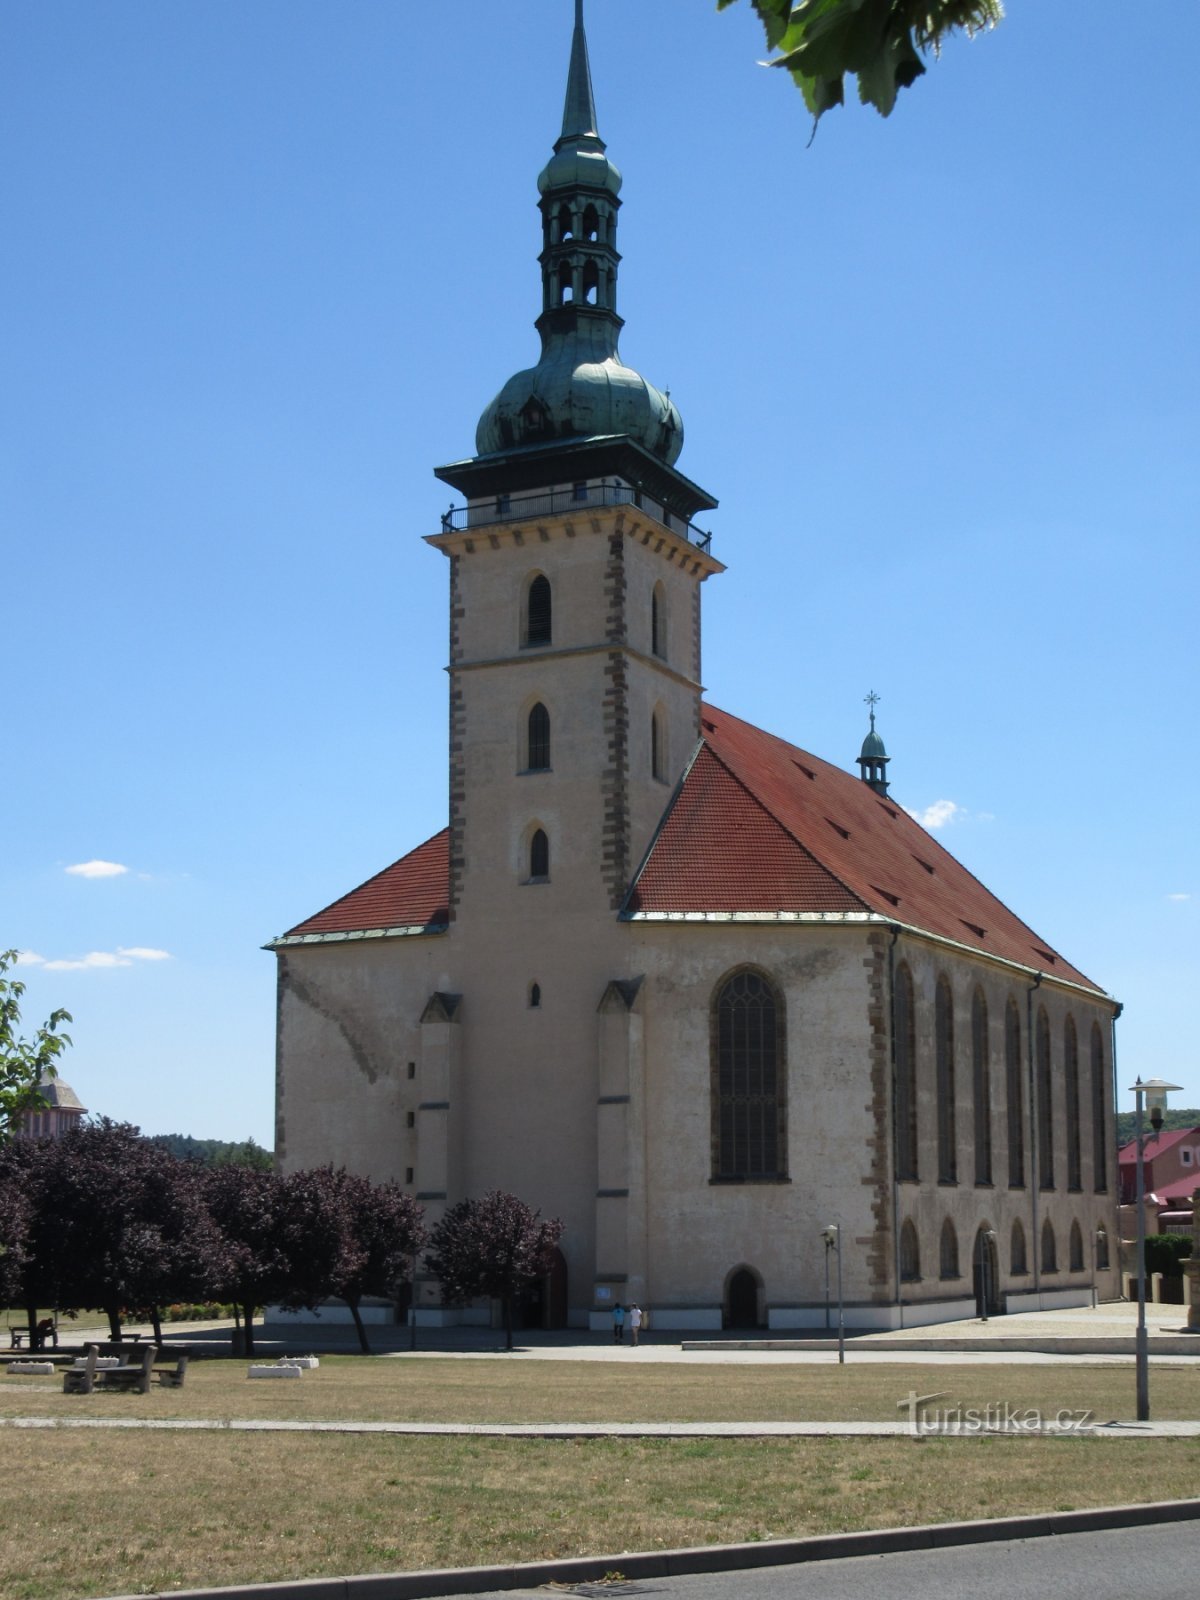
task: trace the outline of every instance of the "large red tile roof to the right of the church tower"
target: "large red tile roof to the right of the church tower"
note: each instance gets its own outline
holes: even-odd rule
[[[715,706],[701,717],[627,914],[875,912],[1102,992],[901,805]]]

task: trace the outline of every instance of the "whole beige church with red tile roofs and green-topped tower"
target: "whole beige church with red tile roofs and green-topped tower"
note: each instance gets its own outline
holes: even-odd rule
[[[874,696],[853,774],[702,696],[715,501],[618,352],[581,13],[541,358],[437,469],[448,824],[270,942],[278,1160],[562,1218],[546,1326],[824,1326],[830,1224],[848,1326],[1115,1293],[1118,1005],[891,798]]]

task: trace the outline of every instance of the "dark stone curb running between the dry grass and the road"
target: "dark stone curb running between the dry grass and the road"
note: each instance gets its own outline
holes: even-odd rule
[[[429,1573],[379,1573],[363,1578],[304,1578],[282,1584],[234,1584],[226,1589],[171,1589],[158,1595],[114,1600],[437,1600],[438,1595],[486,1594],[494,1589],[538,1589],[542,1584],[587,1584],[619,1573],[626,1579],[683,1578],[800,1562],[840,1562],[854,1555],[896,1555],[1005,1539],[1045,1539],[1064,1533],[1096,1533],[1165,1522],[1200,1520],[1200,1499],[1149,1501],[1146,1506],[1101,1506],[1093,1510],[939,1522],[922,1528],[877,1528],[827,1533],[811,1539],[763,1539],[758,1544],[707,1544],[683,1550],[640,1550],[587,1555],[563,1562],[512,1566],[450,1566]]]

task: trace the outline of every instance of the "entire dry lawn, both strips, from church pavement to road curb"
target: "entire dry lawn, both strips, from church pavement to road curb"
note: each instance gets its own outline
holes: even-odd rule
[[[197,1362],[182,1390],[62,1395],[5,1378],[8,1418],[754,1421],[888,1418],[909,1389],[1133,1411],[1131,1366],[683,1366],[325,1358],[251,1382]],[[1152,1373],[1155,1416],[1195,1373]],[[989,1517],[1194,1493],[1200,1440],[504,1440],[5,1429],[0,1594],[82,1600],[341,1573],[536,1560]],[[16,1536],[19,1531],[19,1536]]]

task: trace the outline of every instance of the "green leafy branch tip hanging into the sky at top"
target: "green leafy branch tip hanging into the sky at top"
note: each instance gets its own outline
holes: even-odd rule
[[[717,0],[725,11],[734,0]],[[773,67],[790,72],[819,122],[845,101],[846,75],[858,78],[864,106],[890,117],[896,94],[925,72],[922,54],[939,54],[957,32],[995,27],[1003,0],[750,0],[779,54]]]

